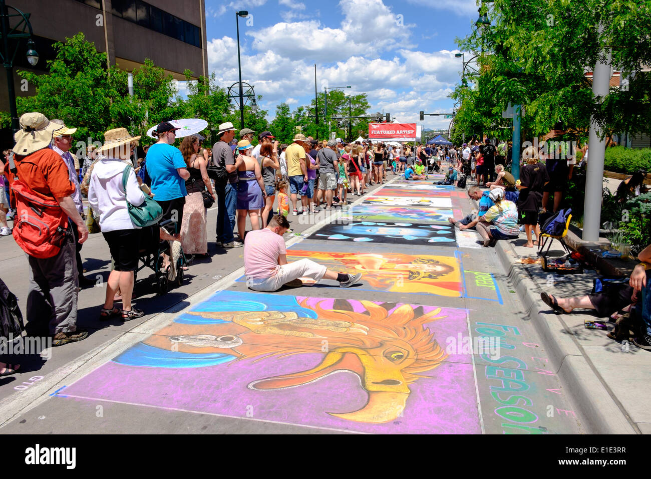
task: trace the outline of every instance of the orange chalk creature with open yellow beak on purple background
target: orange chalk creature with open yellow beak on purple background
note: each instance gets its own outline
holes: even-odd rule
[[[368,392],[368,401],[350,413],[329,413],[357,422],[381,423],[402,415],[409,398],[409,385],[424,371],[436,368],[445,359],[434,334],[426,323],[445,316],[440,308],[424,313],[421,307],[404,304],[376,304],[361,301],[366,312],[353,311],[346,300],[335,300],[333,309],[303,308],[316,312],[316,318],[294,312],[191,312],[230,323],[186,325],[173,323],[145,343],[186,353],[225,353],[245,358],[290,356],[324,352],[318,366],[296,373],[253,381],[249,388],[279,390],[306,385],[341,371],[359,376]]]

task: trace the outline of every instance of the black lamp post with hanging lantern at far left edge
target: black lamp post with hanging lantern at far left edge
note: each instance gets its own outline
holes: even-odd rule
[[[9,14],[8,8],[16,10],[16,13]],[[31,39],[31,36],[34,35],[32,31],[32,25],[29,23],[30,14],[23,13],[18,8],[8,7],[5,4],[5,0],[0,0],[0,38],[2,40],[2,46],[0,50],[0,59],[5,66],[5,71],[7,72],[7,90],[9,93],[9,110],[11,114],[11,129],[15,133],[20,128],[18,124],[18,108],[16,108],[16,91],[14,91],[14,59],[16,59],[16,53],[18,53],[18,46],[20,41],[16,42],[16,47],[10,50],[10,40],[14,38],[20,40],[20,38],[29,38],[27,40],[27,51],[25,52],[25,57],[29,65],[36,65],[38,63],[38,53],[35,50],[34,41]],[[14,27],[10,27],[9,19],[17,17],[20,18],[18,24]],[[29,30],[29,33],[26,31]]]

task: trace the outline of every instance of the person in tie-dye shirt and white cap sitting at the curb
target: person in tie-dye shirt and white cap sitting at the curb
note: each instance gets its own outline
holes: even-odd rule
[[[484,246],[495,246],[497,240],[517,239],[520,234],[518,225],[518,208],[516,203],[504,199],[504,190],[495,188],[488,194],[495,205],[484,214],[477,223],[477,231],[484,240]]]

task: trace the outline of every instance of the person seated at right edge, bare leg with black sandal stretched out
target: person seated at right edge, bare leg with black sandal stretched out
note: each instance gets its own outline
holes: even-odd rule
[[[646,287],[646,269],[651,268],[651,244],[644,248],[637,259],[641,263],[633,268],[628,285],[613,285],[607,292],[572,298],[557,298],[542,292],[540,299],[557,314],[569,314],[575,309],[595,310],[598,317],[609,316],[616,320],[618,314],[630,311],[632,304],[640,299],[639,292]]]

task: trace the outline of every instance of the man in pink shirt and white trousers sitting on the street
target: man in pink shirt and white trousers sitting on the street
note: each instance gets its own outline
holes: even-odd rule
[[[264,229],[249,231],[244,240],[244,274],[247,286],[253,291],[277,291],[283,285],[298,287],[298,278],[339,281],[340,287],[348,287],[359,281],[361,273],[336,273],[311,259],[287,262],[283,234],[289,229],[287,219],[276,214]]]

